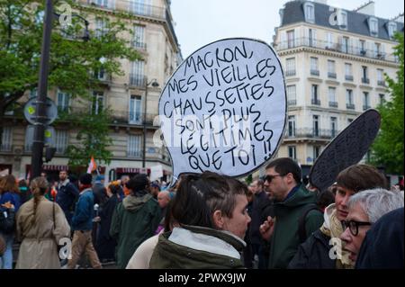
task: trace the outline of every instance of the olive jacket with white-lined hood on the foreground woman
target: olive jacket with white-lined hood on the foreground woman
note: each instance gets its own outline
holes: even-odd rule
[[[245,242],[233,234],[197,226],[175,228],[159,236],[151,269],[243,268]]]

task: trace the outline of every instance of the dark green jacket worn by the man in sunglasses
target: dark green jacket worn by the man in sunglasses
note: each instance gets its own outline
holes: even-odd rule
[[[286,268],[300,246],[299,220],[310,204],[316,203],[316,194],[300,185],[284,202],[275,202],[275,230],[270,242],[269,268]],[[323,215],[320,211],[308,212],[305,219],[307,238],[320,228]]]

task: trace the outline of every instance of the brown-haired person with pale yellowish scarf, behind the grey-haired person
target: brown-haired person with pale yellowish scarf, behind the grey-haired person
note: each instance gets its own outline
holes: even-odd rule
[[[325,209],[323,225],[300,245],[288,268],[353,268],[348,253],[341,251],[340,236],[344,231],[341,220],[347,218],[347,202],[352,195],[377,187],[386,188],[387,183],[374,166],[354,165],[341,171],[337,177],[335,203]]]

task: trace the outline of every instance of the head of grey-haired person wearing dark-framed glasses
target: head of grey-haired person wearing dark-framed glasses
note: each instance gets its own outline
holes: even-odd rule
[[[344,232],[340,238],[343,249],[349,252],[349,259],[356,263],[366,232],[385,213],[403,207],[403,196],[381,188],[356,193],[348,202],[346,220],[342,220]]]

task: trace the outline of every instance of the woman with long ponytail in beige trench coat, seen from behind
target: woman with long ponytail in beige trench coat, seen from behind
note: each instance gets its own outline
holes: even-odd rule
[[[17,269],[60,268],[58,243],[61,238],[70,238],[70,227],[59,205],[44,197],[48,191],[44,177],[32,180],[33,197],[17,213],[17,238],[23,241]]]

